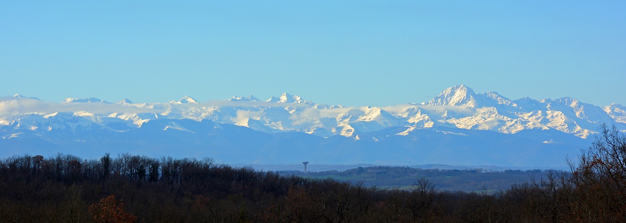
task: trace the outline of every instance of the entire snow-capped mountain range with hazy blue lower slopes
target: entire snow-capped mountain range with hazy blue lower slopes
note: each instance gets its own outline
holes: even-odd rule
[[[121,152],[204,155],[225,162],[563,165],[600,125],[626,130],[626,108],[573,98],[510,100],[468,86],[386,107],[317,104],[283,93],[200,103],[47,103],[1,98],[0,155]],[[46,150],[46,148],[53,148]],[[33,152],[34,151],[34,152]],[[176,152],[172,152],[176,151]],[[289,161],[290,158],[296,159]],[[316,160],[317,159],[317,160]]]

